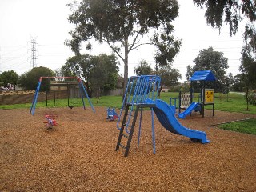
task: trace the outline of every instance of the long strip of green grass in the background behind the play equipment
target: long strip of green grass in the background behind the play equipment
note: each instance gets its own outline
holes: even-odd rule
[[[178,98],[178,93],[161,93],[160,99],[169,103],[170,98]],[[111,106],[120,108],[122,106],[122,96],[103,96],[100,97],[99,102],[97,103],[98,98],[92,98],[91,102],[94,106]],[[31,101],[32,102],[32,101]],[[198,94],[195,94],[194,102],[198,102]],[[87,98],[85,98],[86,106],[90,106]],[[14,105],[1,105],[0,109],[18,109],[18,108],[30,108],[31,103],[26,104],[14,104]],[[58,99],[54,101],[48,101],[49,107],[66,107],[67,99]],[[70,99],[70,106],[82,106],[82,99]],[[178,106],[178,100],[177,100]],[[38,102],[37,108],[46,107],[46,102]],[[206,106],[206,109],[212,109],[212,106]],[[241,94],[232,93],[229,94],[229,98],[226,98],[226,95],[222,94],[215,94],[215,110],[222,110],[222,111],[230,111],[230,112],[238,112],[243,114],[256,114],[256,106],[249,106],[249,110],[246,110],[246,100],[244,96]]]

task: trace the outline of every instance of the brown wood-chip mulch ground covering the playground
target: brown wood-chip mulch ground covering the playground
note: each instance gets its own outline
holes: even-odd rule
[[[256,191],[256,136],[210,126],[256,115],[206,111],[179,120],[205,131],[208,144],[171,134],[150,111],[138,122],[128,157],[106,108],[0,110],[0,191]],[[44,115],[58,115],[47,129]]]

